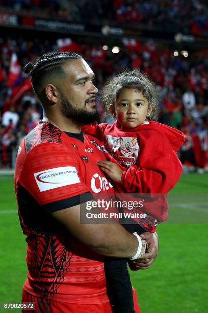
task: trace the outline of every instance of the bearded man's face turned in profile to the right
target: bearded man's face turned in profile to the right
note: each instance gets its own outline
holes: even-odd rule
[[[99,118],[95,105],[97,88],[92,81],[94,73],[83,60],[63,64],[67,77],[60,88],[61,110],[65,117],[80,124],[91,124]]]

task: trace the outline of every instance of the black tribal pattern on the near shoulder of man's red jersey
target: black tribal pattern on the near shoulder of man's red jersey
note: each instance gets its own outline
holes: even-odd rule
[[[61,144],[61,134],[62,131],[56,126],[44,122],[40,123],[24,139],[25,154],[30,152],[33,147],[41,142],[55,142]]]

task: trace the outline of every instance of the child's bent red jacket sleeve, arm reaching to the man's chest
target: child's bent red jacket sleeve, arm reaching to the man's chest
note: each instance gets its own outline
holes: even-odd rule
[[[143,141],[137,164],[123,172],[120,184],[128,193],[167,193],[183,171],[170,143],[162,136]]]

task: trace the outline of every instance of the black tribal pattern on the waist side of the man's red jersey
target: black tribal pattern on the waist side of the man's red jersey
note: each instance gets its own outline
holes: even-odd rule
[[[41,297],[50,299],[64,282],[73,255],[75,239],[62,233],[53,237],[33,237],[32,266],[37,283],[42,286]]]

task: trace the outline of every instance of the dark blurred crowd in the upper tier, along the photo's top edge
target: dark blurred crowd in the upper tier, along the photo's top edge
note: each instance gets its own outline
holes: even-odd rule
[[[205,0],[0,0],[0,9],[87,24],[207,35]]]

